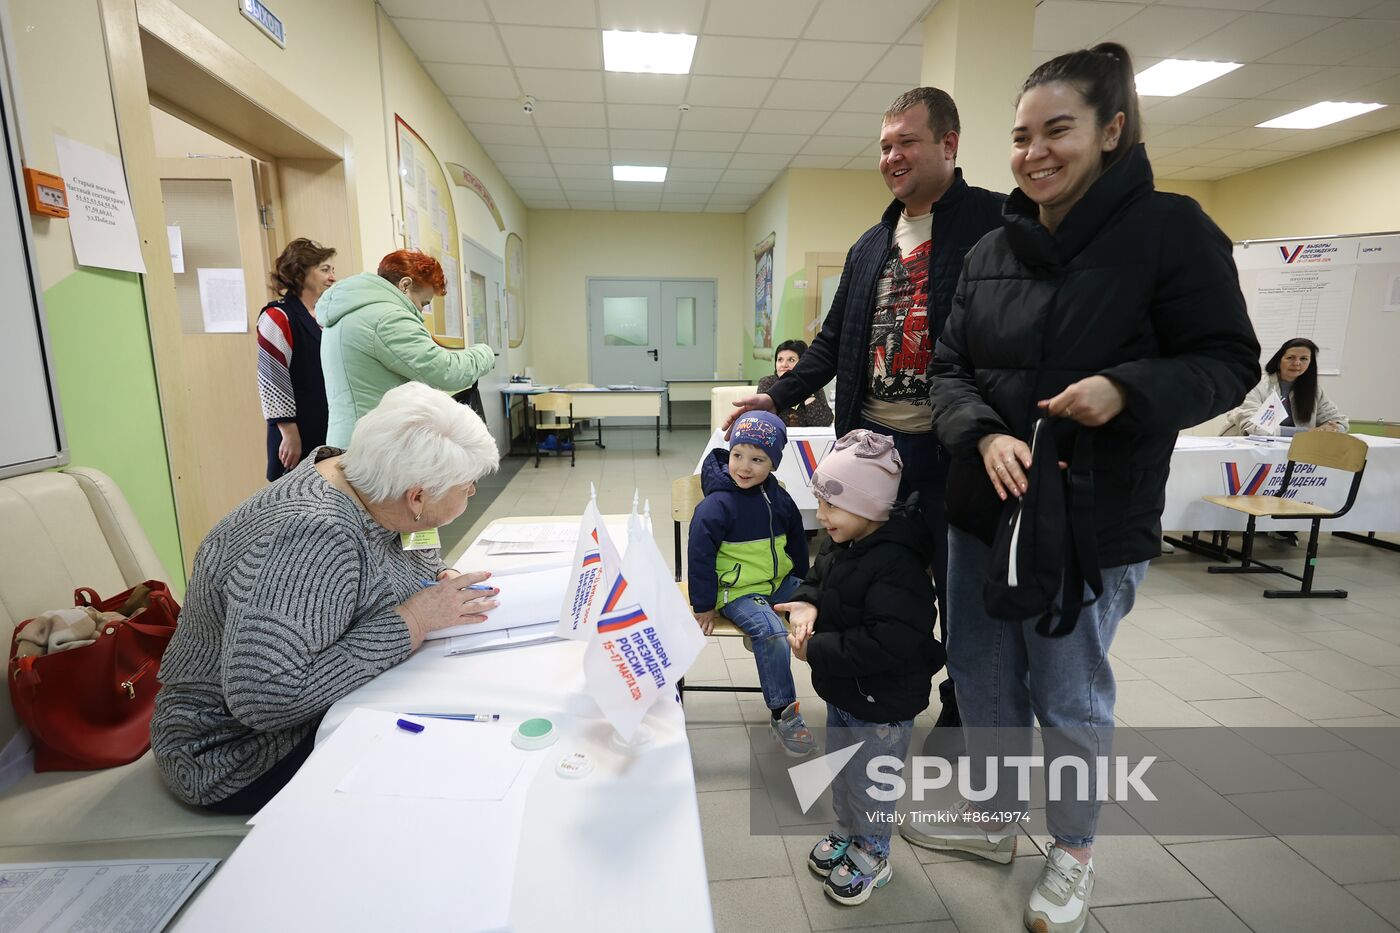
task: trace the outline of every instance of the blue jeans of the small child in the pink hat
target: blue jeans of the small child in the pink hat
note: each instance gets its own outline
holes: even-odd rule
[[[914,720],[906,719],[902,723],[868,723],[855,719],[843,709],[832,703],[826,705],[826,754],[840,751],[847,745],[864,741],[861,749],[855,752],[841,773],[832,782],[832,808],[836,810],[836,820],[840,824],[837,832],[858,845],[865,852],[879,859],[889,857],[889,832],[878,832],[875,827],[892,827],[895,815],[895,801],[872,799],[865,789],[871,786],[865,768],[872,758],[893,755],[904,761],[909,755],[909,740],[914,734]],[[883,814],[883,820],[872,821],[865,814]],[[854,832],[854,828],[865,828],[871,832]]]

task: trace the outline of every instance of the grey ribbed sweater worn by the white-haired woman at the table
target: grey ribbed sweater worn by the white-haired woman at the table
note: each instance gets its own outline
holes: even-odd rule
[[[322,447],[224,517],[195,555],[161,660],[151,748],[165,783],[218,803],[281,761],[337,699],[409,656],[393,607],[433,579],[330,486]]]

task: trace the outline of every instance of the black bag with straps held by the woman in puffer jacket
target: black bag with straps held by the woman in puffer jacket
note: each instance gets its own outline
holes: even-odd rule
[[[1036,420],[1026,493],[1002,506],[983,586],[988,615],[1036,619],[1036,633],[1047,637],[1070,635],[1079,611],[1103,594],[1093,523],[1093,430],[1074,426],[1074,462],[1064,471],[1057,422],[1064,423]],[[1088,601],[1081,598],[1085,584],[1093,594]]]

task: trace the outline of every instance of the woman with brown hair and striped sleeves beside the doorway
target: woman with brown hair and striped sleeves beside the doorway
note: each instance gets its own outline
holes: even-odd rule
[[[326,381],[321,375],[316,298],[335,284],[336,251],[298,237],[277,256],[281,297],[258,315],[258,396],[267,419],[267,482],[326,443]]]

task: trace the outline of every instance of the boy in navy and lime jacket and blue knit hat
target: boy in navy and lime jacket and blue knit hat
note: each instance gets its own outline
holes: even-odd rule
[[[734,423],[729,450],[710,451],[687,565],[696,622],[710,635],[718,612],[749,636],[773,734],[785,754],[801,758],[816,744],[798,712],[787,628],[773,611],[806,576],[802,513],[773,475],[785,445],[776,415],[749,412]]]

